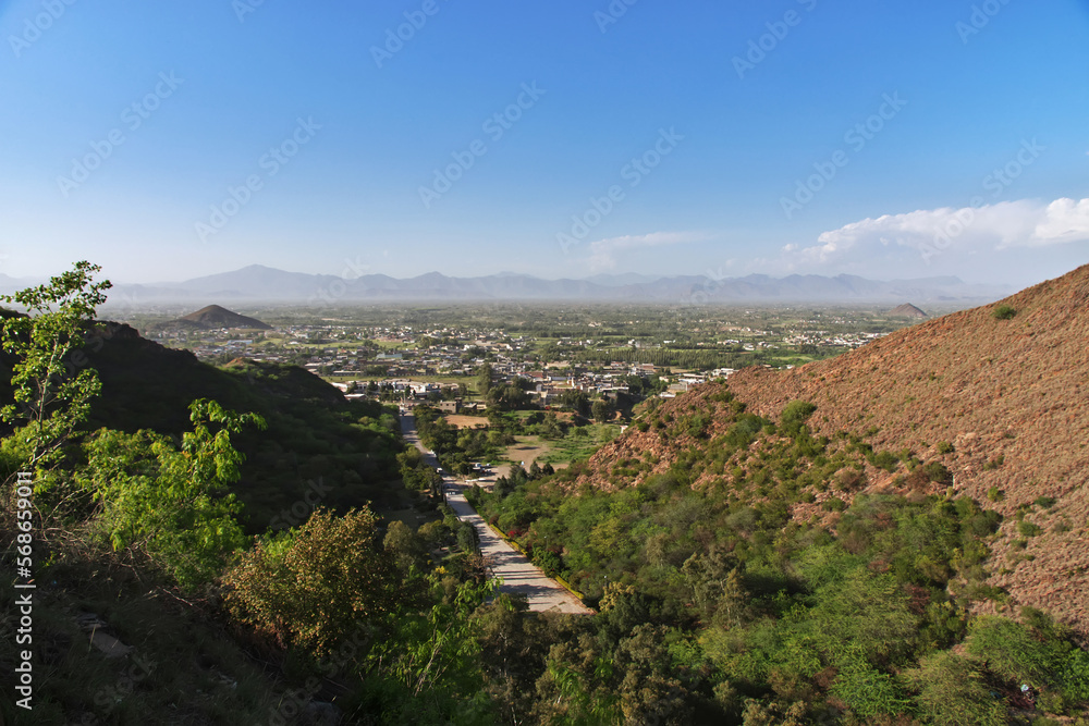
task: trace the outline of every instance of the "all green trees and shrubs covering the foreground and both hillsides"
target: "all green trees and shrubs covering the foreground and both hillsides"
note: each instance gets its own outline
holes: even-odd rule
[[[818,435],[809,401],[774,419],[724,386],[699,407],[648,402],[608,455],[470,493],[598,610],[530,615],[487,581],[476,530],[440,504],[390,411],[291,367],[143,349],[90,322],[108,286],[95,272],[13,296],[30,315],[3,330],[0,530],[10,563],[16,472],[33,471],[35,723],[1085,723],[1089,652],[989,583],[1003,518],[954,496],[941,460]],[[115,385],[149,356],[183,374]],[[416,409],[452,470],[516,435],[589,450],[615,430],[603,401],[573,398],[568,421],[504,410],[521,386],[477,383],[488,429]],[[892,480],[882,493],[867,491],[874,471]],[[287,479],[327,476],[335,492],[295,489],[247,531],[250,503],[274,513]],[[1037,495],[1010,527],[1041,536],[1027,515],[1057,502]],[[16,596],[0,587],[0,607]],[[0,620],[5,667],[14,636]],[[115,647],[139,669],[102,652]],[[0,704],[5,723],[23,715]]]

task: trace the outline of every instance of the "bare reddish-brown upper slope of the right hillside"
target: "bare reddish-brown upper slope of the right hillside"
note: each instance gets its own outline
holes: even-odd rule
[[[995,319],[1002,304],[1016,317]],[[949,441],[956,489],[981,501],[992,487],[1003,490],[996,507],[1005,515],[1056,499],[1027,517],[1044,528],[1024,551],[1031,561],[1011,550],[1018,533],[1007,517],[993,581],[1089,630],[1089,266],[830,360],[746,369],[730,387],[764,416],[810,401],[818,406],[810,424],[825,434],[877,427],[868,438],[876,447],[933,457]]]

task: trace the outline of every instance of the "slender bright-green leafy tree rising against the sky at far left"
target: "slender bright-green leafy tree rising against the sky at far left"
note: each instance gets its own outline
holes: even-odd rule
[[[3,349],[15,356],[11,385],[15,403],[0,410],[7,423],[24,424],[15,438],[32,467],[54,462],[61,446],[86,420],[90,399],[101,383],[86,365],[82,348],[86,322],[106,302],[103,291],[112,284],[93,282],[101,268],[86,261],[51,278],[48,284],[3,295],[17,303],[28,316],[9,315],[3,320]],[[73,355],[75,350],[75,355]]]

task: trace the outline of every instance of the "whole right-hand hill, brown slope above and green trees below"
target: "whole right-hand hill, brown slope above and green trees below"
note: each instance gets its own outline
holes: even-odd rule
[[[1087,278],[652,401],[585,464],[476,501],[659,628],[671,723],[1084,723]],[[579,657],[547,669],[622,689]]]

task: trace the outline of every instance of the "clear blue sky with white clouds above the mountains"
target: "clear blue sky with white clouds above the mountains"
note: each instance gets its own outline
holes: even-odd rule
[[[627,2],[0,0],[0,272],[1086,261],[1089,0]]]

